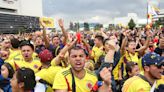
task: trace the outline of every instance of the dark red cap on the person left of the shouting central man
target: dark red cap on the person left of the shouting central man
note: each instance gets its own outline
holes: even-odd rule
[[[39,58],[43,63],[51,62],[51,60],[53,59],[53,55],[49,50],[45,49],[39,53]]]

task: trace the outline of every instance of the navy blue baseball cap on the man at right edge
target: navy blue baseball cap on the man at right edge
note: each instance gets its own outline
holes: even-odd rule
[[[155,52],[149,52],[142,57],[142,66],[156,65],[162,66],[164,64],[164,57],[161,57]]]

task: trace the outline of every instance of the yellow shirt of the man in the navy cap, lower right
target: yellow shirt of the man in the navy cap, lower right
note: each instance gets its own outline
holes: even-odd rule
[[[151,86],[139,76],[134,76],[125,81],[122,92],[150,92]]]

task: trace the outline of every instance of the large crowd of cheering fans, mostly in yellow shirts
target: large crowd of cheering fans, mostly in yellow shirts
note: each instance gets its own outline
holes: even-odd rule
[[[0,35],[2,92],[163,92],[164,29]]]

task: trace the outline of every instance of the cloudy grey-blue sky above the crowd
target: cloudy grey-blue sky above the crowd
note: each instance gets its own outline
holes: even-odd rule
[[[160,9],[164,9],[164,0],[152,0]],[[116,17],[126,17],[136,13],[146,18],[147,0],[43,0],[43,15],[56,20],[69,22],[112,23]]]

